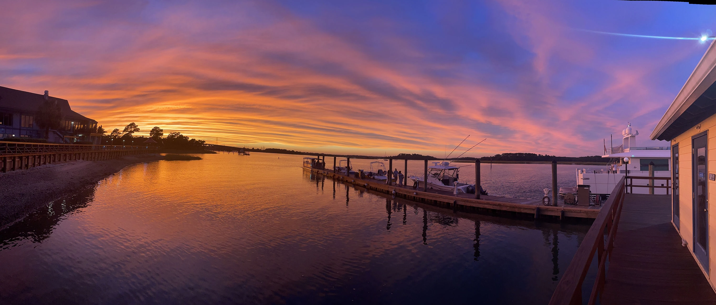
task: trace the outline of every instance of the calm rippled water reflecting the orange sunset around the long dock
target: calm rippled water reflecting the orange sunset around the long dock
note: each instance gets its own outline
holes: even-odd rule
[[[392,199],[302,157],[137,164],[55,201],[0,231],[1,303],[546,304],[589,229]],[[483,170],[496,194],[549,176]]]

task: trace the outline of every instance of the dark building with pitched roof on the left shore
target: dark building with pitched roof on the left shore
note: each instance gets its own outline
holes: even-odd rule
[[[39,106],[45,100],[54,101],[62,110],[62,126],[50,129],[48,141],[72,144],[77,141],[91,141],[100,144],[102,134],[97,133],[97,121],[78,114],[66,99],[43,94],[20,91],[0,86],[0,139],[44,138],[44,130],[37,126],[34,118]]]

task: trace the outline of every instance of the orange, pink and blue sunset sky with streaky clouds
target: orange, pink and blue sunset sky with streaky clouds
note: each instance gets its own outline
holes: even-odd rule
[[[343,3],[343,4],[339,4]],[[208,143],[324,153],[640,145],[716,7],[661,1],[0,0],[0,86]],[[648,145],[667,146],[664,143]]]

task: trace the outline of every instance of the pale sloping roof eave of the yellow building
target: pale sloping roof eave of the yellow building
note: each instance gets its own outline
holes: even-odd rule
[[[699,64],[691,72],[681,91],[677,94],[669,109],[662,119],[659,120],[656,128],[652,131],[650,138],[656,140],[661,136],[674,121],[686,111],[694,101],[703,94],[716,81],[716,41],[712,41],[709,49],[701,57]],[[669,139],[671,140],[671,139]]]

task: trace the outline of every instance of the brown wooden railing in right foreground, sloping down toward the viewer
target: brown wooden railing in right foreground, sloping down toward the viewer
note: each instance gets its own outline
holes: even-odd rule
[[[589,271],[589,266],[597,258],[597,271],[594,286],[589,295],[588,304],[596,304],[596,299],[604,287],[606,276],[606,261],[614,245],[614,235],[619,226],[621,207],[624,205],[624,193],[626,191],[626,178],[621,177],[619,183],[611,191],[609,199],[602,206],[599,215],[594,219],[594,224],[587,231],[584,239],[579,245],[569,267],[564,271],[562,279],[557,284],[550,305],[576,305],[582,304],[582,284]],[[606,235],[606,240],[604,239]]]

